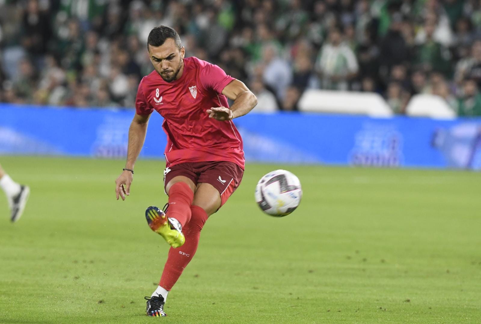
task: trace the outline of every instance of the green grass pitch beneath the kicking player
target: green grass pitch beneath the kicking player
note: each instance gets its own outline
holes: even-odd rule
[[[10,224],[0,197],[0,323],[480,323],[481,174],[248,164],[197,254],[145,315],[168,246],[146,207],[166,202],[163,161],[1,157],[31,187]],[[284,218],[253,199],[286,168],[304,190]]]

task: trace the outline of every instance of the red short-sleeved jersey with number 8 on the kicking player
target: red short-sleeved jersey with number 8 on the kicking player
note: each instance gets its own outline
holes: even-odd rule
[[[182,76],[166,82],[154,70],[139,84],[135,109],[149,115],[155,109],[164,117],[167,167],[183,162],[227,161],[244,169],[239,131],[232,121],[209,118],[211,107],[228,107],[222,90],[234,80],[217,65],[196,57],[184,59]]]

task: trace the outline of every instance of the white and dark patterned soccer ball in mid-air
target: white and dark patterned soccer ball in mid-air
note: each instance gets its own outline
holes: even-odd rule
[[[255,201],[271,216],[289,215],[302,198],[301,182],[289,171],[275,170],[264,175],[255,187]]]

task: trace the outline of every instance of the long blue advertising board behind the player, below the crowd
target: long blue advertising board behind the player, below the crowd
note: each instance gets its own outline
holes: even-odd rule
[[[118,158],[133,110],[0,105],[0,154]],[[236,119],[248,162],[481,169],[481,119],[249,113]],[[163,158],[153,113],[140,157]]]

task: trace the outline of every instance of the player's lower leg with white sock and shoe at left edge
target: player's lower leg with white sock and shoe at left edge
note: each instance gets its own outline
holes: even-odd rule
[[[6,174],[0,165],[0,188],[7,196],[8,206],[10,207],[10,220],[14,223],[18,221],[25,209],[25,204],[30,194],[30,188],[20,185]]]

